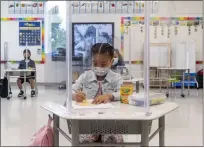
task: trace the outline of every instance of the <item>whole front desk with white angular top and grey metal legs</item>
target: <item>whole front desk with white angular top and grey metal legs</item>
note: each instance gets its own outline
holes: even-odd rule
[[[177,109],[176,103],[150,107],[151,114],[145,114],[143,107],[120,102],[111,102],[111,109],[74,109],[71,113],[60,104],[46,102],[41,107],[53,114],[54,146],[59,146],[61,133],[72,146],[149,146],[149,141],[159,133],[159,146],[165,146],[165,116]],[[60,128],[60,118],[67,120],[71,137]],[[150,135],[150,122],[159,120],[158,129]],[[71,126],[69,126],[71,125]],[[140,134],[141,142],[109,144],[80,143],[79,134]]]

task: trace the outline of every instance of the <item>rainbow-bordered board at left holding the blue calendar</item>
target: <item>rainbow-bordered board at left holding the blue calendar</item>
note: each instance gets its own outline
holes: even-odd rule
[[[27,46],[20,42],[22,33],[22,24],[36,23],[40,25],[40,34],[38,43],[30,41]],[[9,27],[8,27],[9,26]],[[24,26],[25,27],[25,26]],[[35,28],[34,28],[35,29]],[[24,30],[25,31],[25,30]],[[27,29],[31,33],[31,30]],[[27,34],[32,39],[31,34]],[[38,39],[37,39],[38,40]],[[37,41],[36,40],[36,41]],[[35,40],[34,40],[35,41]],[[11,63],[18,63],[23,59],[23,50],[27,47],[31,51],[31,58],[37,64],[45,63],[45,50],[44,50],[44,19],[43,18],[1,18],[1,63],[5,62],[4,59],[4,43],[8,43],[8,61]]]

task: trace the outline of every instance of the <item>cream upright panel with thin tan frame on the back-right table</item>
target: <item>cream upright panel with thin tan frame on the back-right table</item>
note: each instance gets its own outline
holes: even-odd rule
[[[171,67],[171,49],[168,43],[150,44],[150,67]]]

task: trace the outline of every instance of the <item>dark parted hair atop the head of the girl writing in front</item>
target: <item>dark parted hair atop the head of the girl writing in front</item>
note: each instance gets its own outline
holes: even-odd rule
[[[105,54],[113,58],[114,56],[114,47],[108,43],[96,43],[91,48],[92,55],[96,54]]]

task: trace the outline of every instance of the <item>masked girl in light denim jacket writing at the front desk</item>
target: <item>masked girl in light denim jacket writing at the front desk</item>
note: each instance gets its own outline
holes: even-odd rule
[[[84,72],[72,85],[73,100],[82,102],[93,99],[93,104],[120,99],[121,77],[110,70],[114,47],[108,43],[97,43],[91,48],[92,70]],[[80,142],[122,143],[122,135],[80,135]]]

